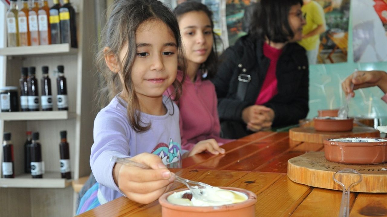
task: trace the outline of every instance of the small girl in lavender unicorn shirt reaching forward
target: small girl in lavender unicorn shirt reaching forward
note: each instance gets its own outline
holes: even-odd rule
[[[163,97],[168,86],[175,86],[177,95],[181,88],[180,32],[172,12],[158,0],[116,0],[112,7],[97,59],[106,81],[100,97],[111,101],[94,120],[90,165],[97,183],[82,197],[78,214],[122,196],[150,203],[173,182],[164,164],[221,151],[198,144],[183,153],[178,107]],[[112,156],[133,156],[153,170],[111,162]]]

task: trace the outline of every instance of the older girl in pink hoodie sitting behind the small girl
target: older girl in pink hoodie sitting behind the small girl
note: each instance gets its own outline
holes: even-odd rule
[[[191,150],[197,143],[224,144],[220,137],[215,87],[209,80],[217,69],[217,54],[212,12],[202,3],[188,1],[179,4],[177,17],[187,59],[187,78],[176,103],[180,110],[180,134],[183,149]],[[177,78],[182,81],[183,72]],[[168,88],[165,95],[174,90]]]

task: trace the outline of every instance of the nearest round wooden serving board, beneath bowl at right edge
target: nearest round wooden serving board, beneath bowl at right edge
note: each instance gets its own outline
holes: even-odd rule
[[[387,192],[387,163],[368,165],[334,163],[325,159],[324,152],[308,152],[289,159],[288,177],[304,185],[342,190],[342,186],[333,181],[332,176],[344,168],[354,169],[363,175],[363,180],[352,186],[351,192]]]

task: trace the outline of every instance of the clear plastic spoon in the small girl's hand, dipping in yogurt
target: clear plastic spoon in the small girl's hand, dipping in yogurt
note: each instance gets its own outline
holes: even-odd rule
[[[130,160],[130,158],[118,158],[116,156],[113,156],[113,157],[111,157],[110,160],[114,161],[116,163],[122,163],[122,164],[129,165],[129,166],[137,166],[137,167],[140,167],[142,169],[147,169],[147,170],[152,169],[145,164],[132,161],[132,160]],[[211,203],[219,203],[219,202],[228,202],[229,201],[229,200],[222,200],[222,201],[209,200],[206,197],[206,192],[209,189],[213,188],[213,186],[207,185],[206,183],[202,183],[199,181],[192,181],[192,180],[182,178],[182,177],[176,175],[175,173],[171,173],[171,175],[175,178],[176,181],[183,183],[185,186],[187,186],[187,188],[192,193],[192,196],[198,200],[211,202]]]

